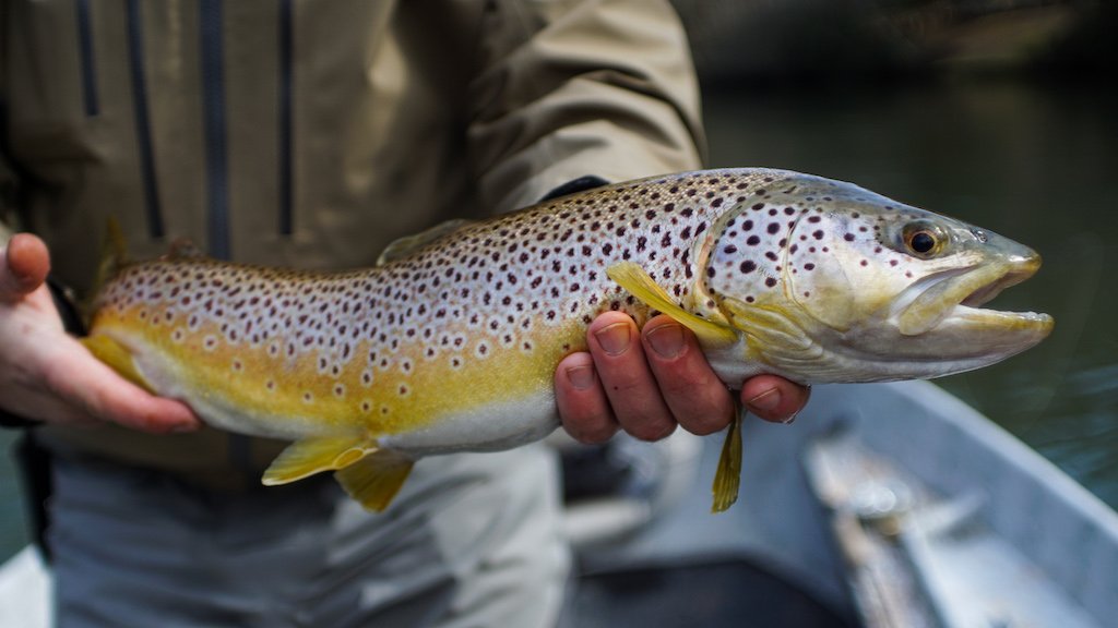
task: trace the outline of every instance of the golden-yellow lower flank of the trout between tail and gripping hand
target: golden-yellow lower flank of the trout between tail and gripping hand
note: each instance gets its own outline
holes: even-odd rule
[[[191,326],[191,317],[165,306],[132,306],[98,318],[98,333],[126,337],[129,345],[173,360],[180,365],[178,386],[202,398],[220,397],[276,421],[313,421],[326,431],[359,429],[377,436],[550,387],[555,364],[585,349],[582,330],[576,325],[540,337],[520,334],[515,342],[467,344],[470,330],[451,324],[437,342],[445,337],[445,346],[454,350],[438,351],[411,339],[378,352],[375,342],[352,340],[332,355],[288,353],[294,343],[241,340],[214,322]],[[472,368],[480,356],[502,368]]]

